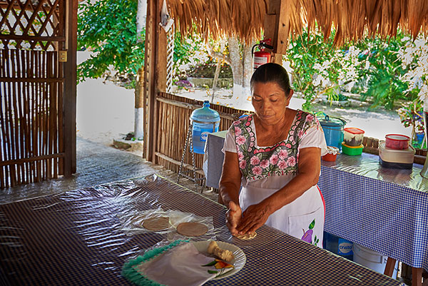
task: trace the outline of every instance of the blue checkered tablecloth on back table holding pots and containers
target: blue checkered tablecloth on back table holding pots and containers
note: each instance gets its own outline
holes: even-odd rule
[[[220,180],[224,137],[213,133],[207,139],[206,182],[212,188]],[[419,174],[422,165],[388,169],[378,160],[363,153],[322,161],[318,185],[326,203],[325,230],[428,270],[428,180]]]

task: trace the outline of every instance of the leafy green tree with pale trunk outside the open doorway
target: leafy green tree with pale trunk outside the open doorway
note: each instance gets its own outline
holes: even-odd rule
[[[131,78],[127,88],[135,88],[136,138],[142,137],[142,129],[138,128],[142,118],[138,98],[143,91],[145,4],[145,0],[84,1],[78,11],[78,49],[93,51],[91,58],[78,66],[79,81],[106,76],[110,68]],[[188,61],[198,46],[186,39],[181,41],[179,34],[174,39],[176,67]]]

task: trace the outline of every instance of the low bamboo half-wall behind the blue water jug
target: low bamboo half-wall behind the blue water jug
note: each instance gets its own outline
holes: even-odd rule
[[[190,124],[190,113],[202,107],[203,101],[159,93],[156,98],[157,145],[156,163],[178,173],[183,154],[185,138]],[[219,131],[227,130],[238,116],[246,111],[211,104],[210,108],[220,113]],[[192,164],[191,153],[185,154],[185,163]],[[202,168],[203,155],[195,153],[195,165]],[[201,178],[201,172],[197,178]]]

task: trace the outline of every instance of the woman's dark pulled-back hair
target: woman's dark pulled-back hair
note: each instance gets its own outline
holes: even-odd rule
[[[251,89],[253,89],[254,83],[277,83],[286,96],[290,94],[291,87],[288,73],[285,68],[277,63],[265,63],[259,66],[251,76]]]

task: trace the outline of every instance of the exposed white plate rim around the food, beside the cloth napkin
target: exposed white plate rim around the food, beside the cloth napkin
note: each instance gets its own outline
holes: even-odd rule
[[[226,272],[223,275],[218,275],[213,279],[216,280],[216,279],[228,277],[230,275],[234,275],[236,272],[243,269],[245,262],[247,261],[247,257],[245,257],[245,253],[243,252],[243,250],[241,250],[236,245],[231,245],[228,242],[223,242],[223,241],[216,241],[216,242],[218,244],[218,247],[220,247],[221,249],[230,250],[231,252],[233,252],[233,256],[235,257],[235,259],[230,262],[230,264],[233,265],[233,270],[230,270],[229,272]],[[192,242],[192,243],[193,245],[195,245],[196,249],[199,252],[209,256],[207,249],[208,249],[208,245],[210,244],[210,240],[198,241],[198,242]]]

